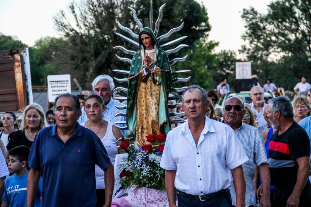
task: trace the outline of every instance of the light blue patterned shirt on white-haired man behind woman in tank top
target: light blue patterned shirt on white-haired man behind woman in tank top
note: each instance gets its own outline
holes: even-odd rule
[[[126,126],[126,125],[119,125],[119,124],[114,123],[114,122],[125,122],[126,121],[126,117],[122,117],[122,116],[114,117],[117,113],[125,113],[126,114],[126,109],[119,110],[119,109],[115,108],[114,105],[124,106],[124,104],[122,104],[118,101],[115,101],[114,99],[111,98],[109,103],[106,105],[106,110],[103,112],[104,120],[106,120],[107,122],[111,122],[114,125],[117,125],[120,127]],[[81,111],[82,111],[82,114],[81,114],[80,118],[78,119],[79,124],[86,122],[86,121],[89,121],[89,118],[86,116],[84,107],[81,108]],[[122,131],[122,132],[123,132],[124,136],[126,136],[127,134],[130,133],[128,130]]]

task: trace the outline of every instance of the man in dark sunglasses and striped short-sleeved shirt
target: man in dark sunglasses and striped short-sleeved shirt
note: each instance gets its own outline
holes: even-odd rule
[[[224,123],[228,124],[238,137],[248,161],[242,164],[244,177],[246,181],[245,206],[255,206],[256,196],[254,190],[254,175],[256,164],[259,168],[260,178],[262,180],[263,191],[260,199],[260,206],[270,205],[270,172],[265,146],[259,131],[248,124],[242,122],[245,113],[244,101],[238,97],[230,97],[225,101],[223,108]],[[232,205],[236,205],[234,186],[230,187]]]

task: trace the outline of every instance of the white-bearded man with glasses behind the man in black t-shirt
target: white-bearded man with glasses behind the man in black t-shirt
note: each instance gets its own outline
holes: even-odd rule
[[[263,102],[263,89],[260,86],[254,86],[251,89],[251,99],[253,102],[250,104],[252,107],[252,111],[256,113],[256,122],[258,122],[259,125],[262,125],[266,123],[265,117],[263,116],[263,107],[267,105]]]

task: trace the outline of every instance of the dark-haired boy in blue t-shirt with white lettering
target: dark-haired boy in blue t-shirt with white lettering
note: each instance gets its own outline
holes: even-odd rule
[[[9,171],[14,173],[5,179],[6,191],[2,195],[1,207],[26,207],[27,201],[27,178],[28,178],[28,156],[30,150],[26,146],[17,146],[9,151]],[[40,177],[38,194],[35,207],[41,206],[42,200],[42,178]]]

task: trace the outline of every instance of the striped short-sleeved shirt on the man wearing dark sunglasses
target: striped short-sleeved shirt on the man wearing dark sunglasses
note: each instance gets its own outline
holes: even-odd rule
[[[244,123],[242,123],[240,128],[234,130],[234,132],[248,156],[248,161],[242,164],[246,182],[245,204],[246,206],[256,206],[256,197],[253,185],[256,164],[259,166],[262,163],[268,163],[263,139],[255,127]],[[232,205],[236,205],[236,194],[233,185],[230,187],[230,193]]]

